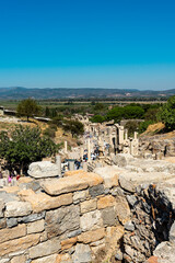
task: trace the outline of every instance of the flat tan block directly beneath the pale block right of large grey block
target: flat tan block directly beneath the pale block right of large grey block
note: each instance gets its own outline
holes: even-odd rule
[[[78,236],[78,241],[82,243],[91,243],[101,240],[105,237],[105,228],[100,228],[94,231],[83,232]]]

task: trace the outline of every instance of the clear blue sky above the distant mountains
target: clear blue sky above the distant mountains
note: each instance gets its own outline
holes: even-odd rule
[[[0,87],[175,89],[175,0],[1,0]]]

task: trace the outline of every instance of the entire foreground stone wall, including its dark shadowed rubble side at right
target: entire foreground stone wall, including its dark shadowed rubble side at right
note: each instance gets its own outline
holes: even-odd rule
[[[1,188],[0,263],[173,263],[174,181],[147,180],[104,167]]]

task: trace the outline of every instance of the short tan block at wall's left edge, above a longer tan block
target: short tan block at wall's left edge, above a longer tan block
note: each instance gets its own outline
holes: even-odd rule
[[[26,235],[26,226],[23,225],[19,225],[15,228],[12,229],[2,229],[0,230],[0,243],[5,242],[8,240],[12,240],[12,239],[16,239],[16,238],[21,238],[24,237]]]

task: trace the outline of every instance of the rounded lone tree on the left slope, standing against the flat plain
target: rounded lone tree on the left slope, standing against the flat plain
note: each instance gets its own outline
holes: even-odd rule
[[[19,116],[26,116],[27,122],[28,118],[32,117],[34,114],[38,114],[40,107],[37,105],[36,101],[33,99],[26,99],[19,103],[16,113]]]

